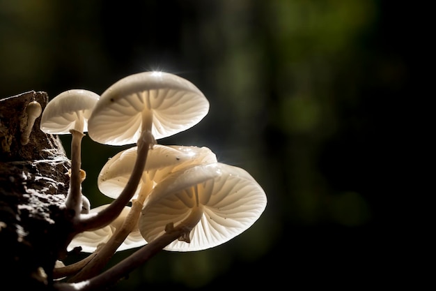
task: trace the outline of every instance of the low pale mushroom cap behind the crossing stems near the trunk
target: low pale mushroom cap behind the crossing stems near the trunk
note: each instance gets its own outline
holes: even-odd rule
[[[107,207],[109,204],[104,204],[99,207],[91,209],[90,213],[97,213],[101,209]],[[81,251],[84,253],[93,253],[99,244],[106,243],[109,241],[114,232],[123,225],[123,222],[129,214],[130,207],[124,207],[118,218],[112,221],[109,225],[99,228],[98,230],[86,231],[77,234],[70,244],[68,245],[67,251],[71,251],[77,246],[81,246]],[[138,226],[134,227],[134,230],[130,232],[123,244],[121,244],[117,251],[124,251],[129,248],[137,248],[147,244],[146,241],[141,236]]]

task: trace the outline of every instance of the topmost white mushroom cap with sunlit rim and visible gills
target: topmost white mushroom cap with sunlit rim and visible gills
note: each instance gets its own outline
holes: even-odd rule
[[[155,139],[197,124],[208,114],[209,102],[188,80],[170,73],[143,72],[124,77],[103,92],[89,119],[89,136],[111,145],[137,143],[150,127]],[[145,115],[153,125],[143,124]]]

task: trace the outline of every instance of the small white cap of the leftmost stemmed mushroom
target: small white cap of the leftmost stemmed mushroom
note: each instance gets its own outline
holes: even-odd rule
[[[83,89],[63,91],[47,103],[40,129],[59,135],[68,134],[71,129],[88,131],[88,119],[99,98],[98,94]]]

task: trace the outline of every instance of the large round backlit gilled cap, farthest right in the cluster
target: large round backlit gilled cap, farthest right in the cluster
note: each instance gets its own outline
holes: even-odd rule
[[[148,195],[139,218],[146,241],[176,227],[192,209],[203,209],[189,234],[190,243],[173,241],[167,251],[200,251],[212,248],[247,230],[263,213],[267,197],[251,175],[223,163],[196,165],[173,172]]]

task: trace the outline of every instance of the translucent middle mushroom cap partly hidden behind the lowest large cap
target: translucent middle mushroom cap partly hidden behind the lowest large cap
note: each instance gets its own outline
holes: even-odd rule
[[[137,158],[137,147],[131,147],[120,151],[102,167],[98,175],[98,188],[111,198],[116,198],[123,191],[133,170]],[[207,147],[188,146],[164,146],[155,144],[153,149],[148,151],[147,163],[144,168],[142,182],[139,183],[135,199],[146,183],[149,189],[157,182],[166,177],[170,172],[179,170],[189,165],[201,163],[216,163],[217,157]]]

